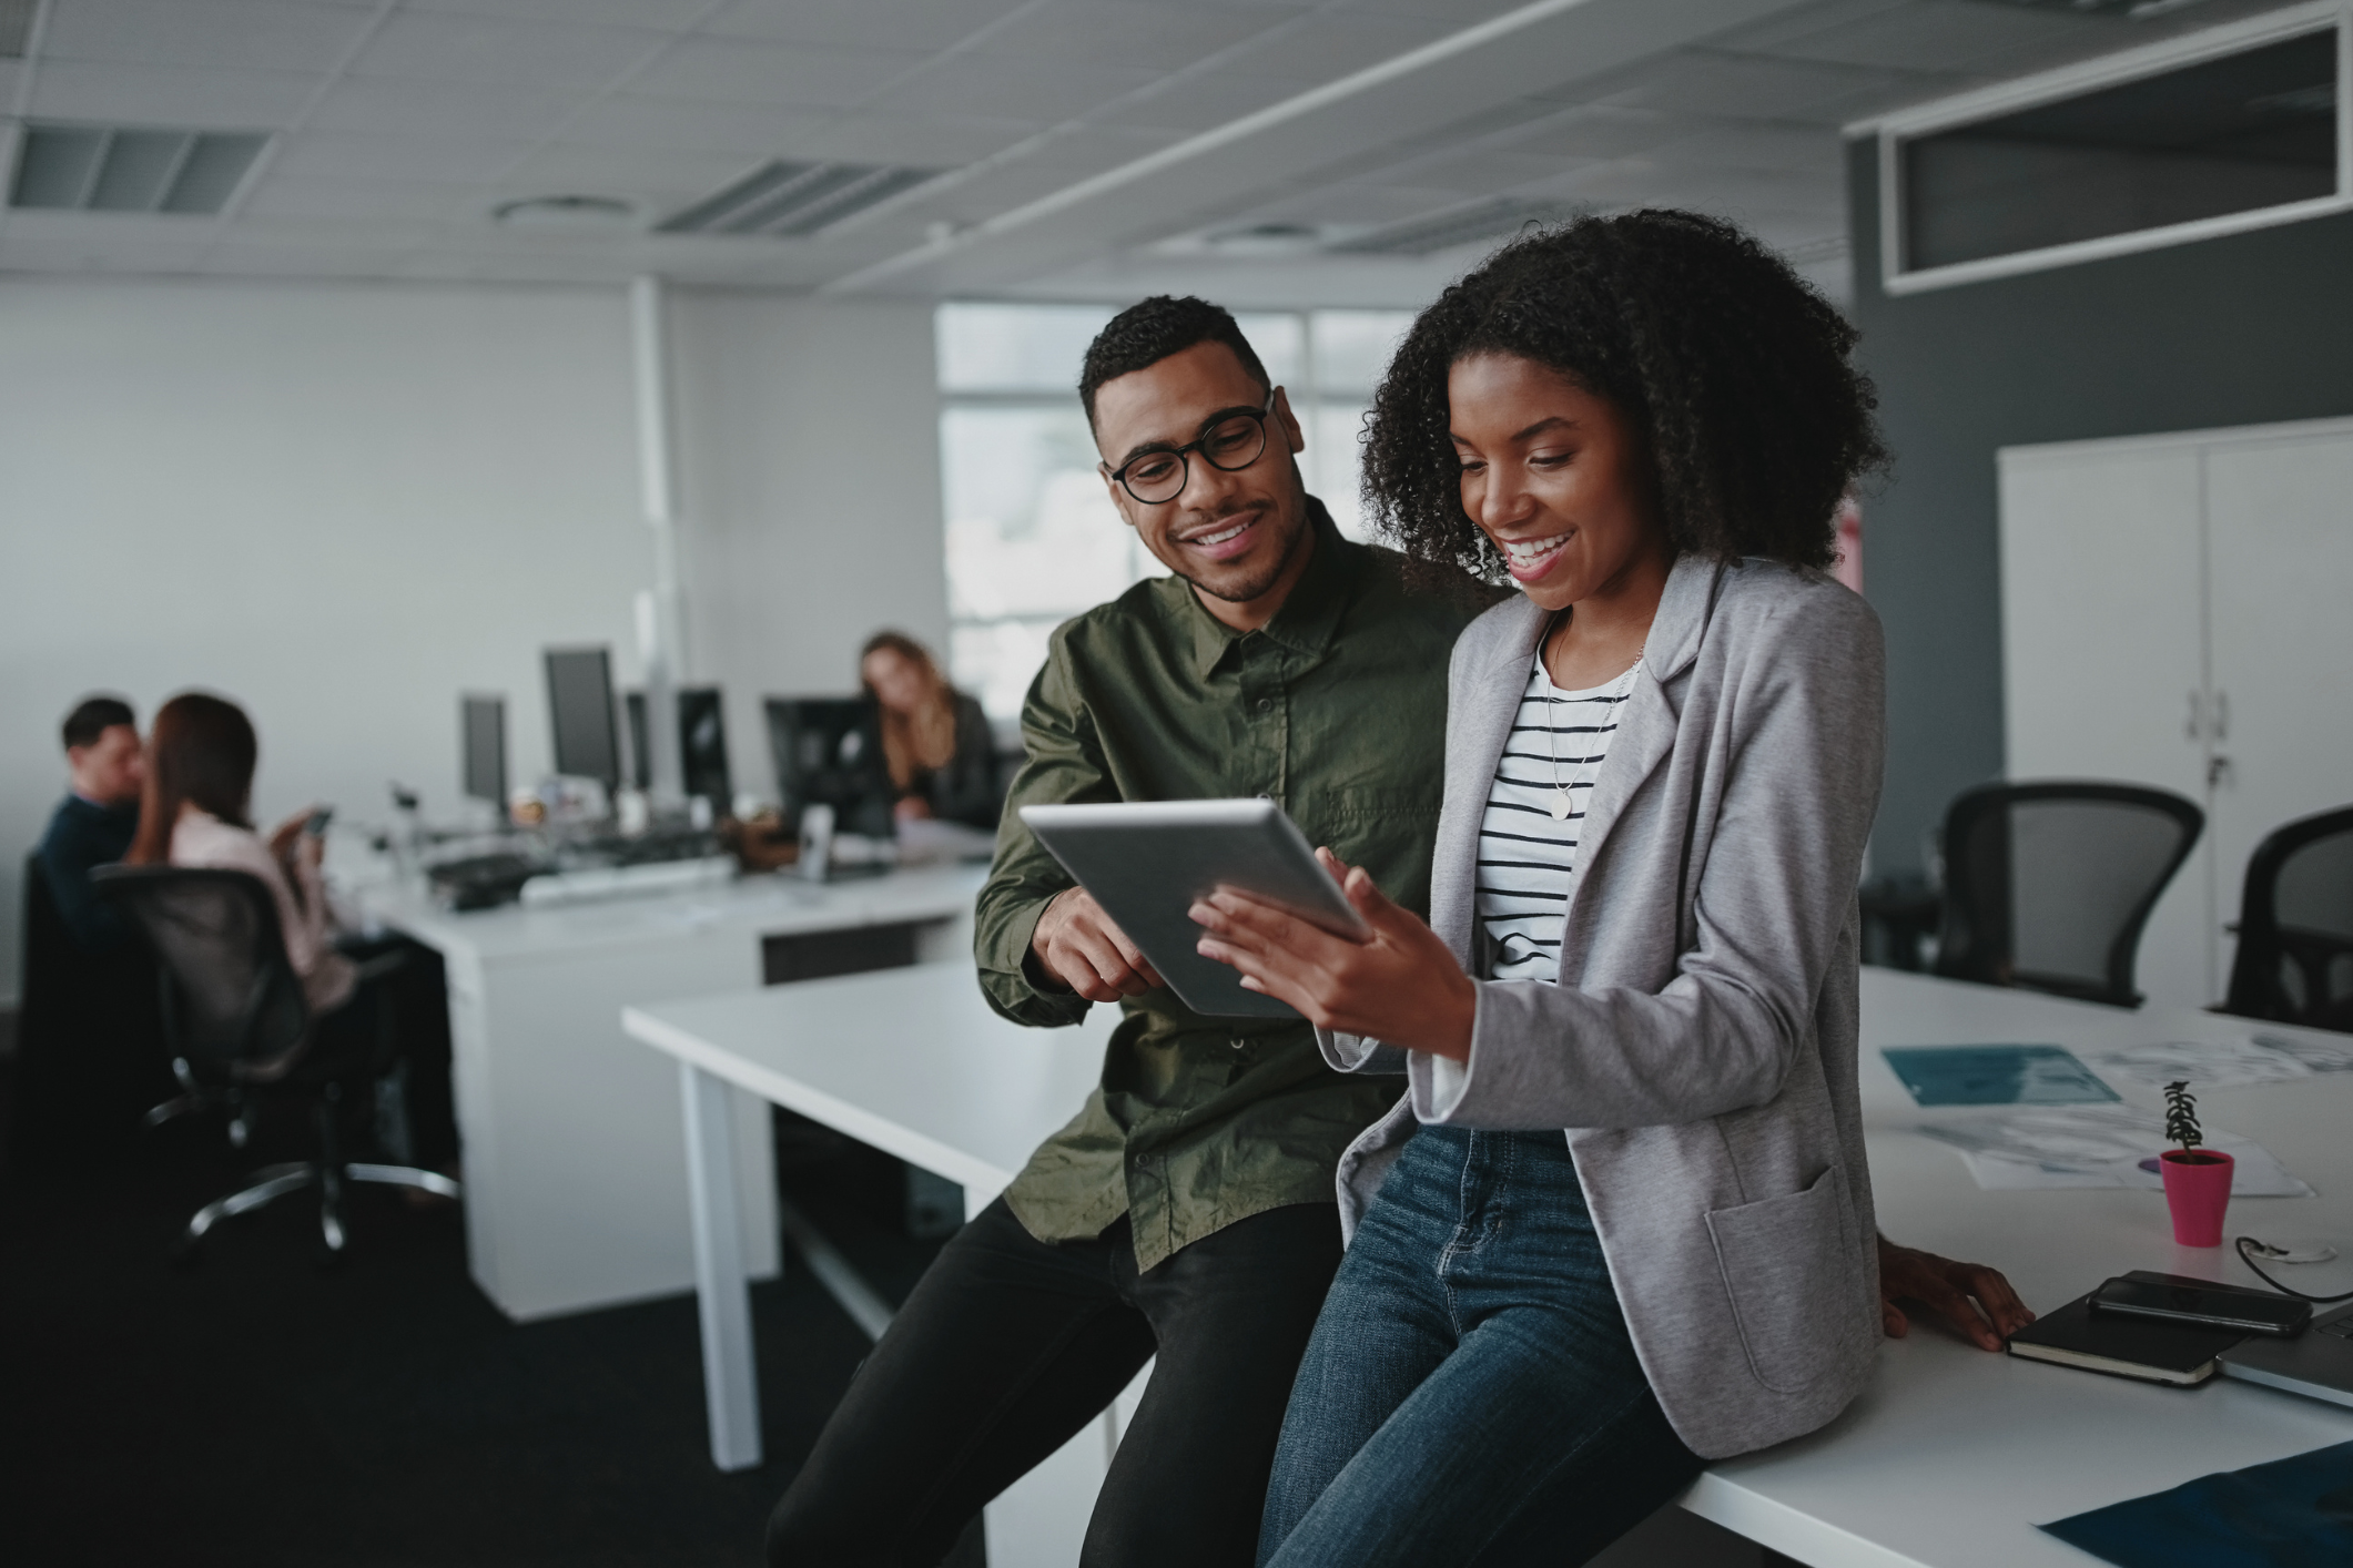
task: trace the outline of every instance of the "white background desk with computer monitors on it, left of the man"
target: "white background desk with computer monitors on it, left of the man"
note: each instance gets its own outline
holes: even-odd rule
[[[621,1034],[621,1009],[755,987],[769,936],[929,922],[918,957],[969,954],[984,875],[953,865],[824,886],[746,877],[471,914],[435,907],[414,884],[353,889],[372,919],[447,966],[475,1284],[518,1321],[687,1291],[678,1077]],[[746,1100],[734,1114],[746,1265],[767,1276],[776,1269],[767,1110]]]

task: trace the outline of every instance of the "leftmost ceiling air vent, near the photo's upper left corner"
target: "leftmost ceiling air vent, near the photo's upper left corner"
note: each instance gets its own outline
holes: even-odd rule
[[[7,205],[216,214],[268,141],[266,132],[28,125]]]

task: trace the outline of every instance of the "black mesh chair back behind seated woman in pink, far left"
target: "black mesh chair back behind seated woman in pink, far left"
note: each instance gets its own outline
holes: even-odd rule
[[[268,884],[179,865],[106,865],[92,882],[162,961],[172,1053],[207,1077],[285,1077],[308,1046],[311,1006]]]

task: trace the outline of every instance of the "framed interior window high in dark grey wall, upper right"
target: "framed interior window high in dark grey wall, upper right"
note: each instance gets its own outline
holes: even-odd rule
[[[2341,12],[2299,7],[1887,120],[1887,289],[2341,212],[2344,54]]]

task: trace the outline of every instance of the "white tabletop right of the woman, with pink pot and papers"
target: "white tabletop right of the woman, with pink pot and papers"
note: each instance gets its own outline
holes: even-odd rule
[[[1951,1147],[1911,1131],[1972,1112],[1920,1110],[1880,1058],[1882,1046],[2085,1051],[2249,1027],[2294,1034],[1866,969],[1861,1084],[1880,1229],[2000,1267],[2035,1312],[2125,1269],[2261,1284],[2231,1248],[2174,1246],[2158,1192],[1979,1192]],[[2158,1105],[2132,1084],[2115,1088]],[[2198,1105],[2207,1124],[2266,1145],[2320,1194],[2233,1199],[2226,1234],[2353,1244],[2353,1074],[2214,1088]],[[2344,1279],[2327,1288],[2353,1288],[2341,1272],[2327,1279]],[[1682,1505],[1817,1568],[2085,1568],[2097,1559],[2033,1526],[2348,1439],[2353,1410],[2313,1399],[2224,1380],[2167,1389],[1988,1356],[1915,1326],[1882,1347],[1878,1380],[1838,1422],[1715,1465]]]

